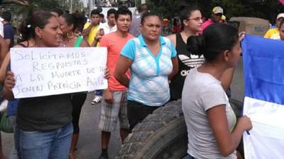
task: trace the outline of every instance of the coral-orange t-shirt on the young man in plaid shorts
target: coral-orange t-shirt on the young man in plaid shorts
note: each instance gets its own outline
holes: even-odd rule
[[[109,90],[127,90],[126,87],[122,86],[119,81],[114,78],[114,69],[119,61],[121,49],[124,47],[126,42],[133,38],[133,35],[128,34],[127,37],[120,37],[116,32],[104,35],[100,40],[99,47],[107,47],[107,68],[109,69]],[[126,76],[130,76],[130,71],[126,72]]]

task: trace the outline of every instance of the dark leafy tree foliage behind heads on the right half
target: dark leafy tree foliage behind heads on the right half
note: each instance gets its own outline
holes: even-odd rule
[[[166,18],[178,16],[181,5],[196,5],[202,15],[209,18],[214,6],[222,6],[224,14],[233,16],[248,16],[265,18],[275,21],[278,13],[284,12],[283,5],[278,0],[147,0],[152,11],[162,13]]]

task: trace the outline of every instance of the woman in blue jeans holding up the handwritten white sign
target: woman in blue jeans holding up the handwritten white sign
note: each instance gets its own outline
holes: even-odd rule
[[[62,32],[58,18],[46,11],[34,12],[29,33],[34,47],[58,47]],[[8,71],[4,96],[13,100],[13,72]],[[67,159],[72,136],[70,94],[23,98],[18,102],[16,148],[22,159]]]

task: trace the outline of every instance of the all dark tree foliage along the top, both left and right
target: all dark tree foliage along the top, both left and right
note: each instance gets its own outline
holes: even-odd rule
[[[141,0],[136,0],[140,4]],[[278,0],[146,0],[152,11],[161,13],[165,18],[173,18],[180,13],[182,5],[196,5],[200,7],[202,15],[209,18],[214,6],[222,6],[227,18],[233,16],[249,16],[271,20],[284,12],[283,5]],[[17,4],[12,6],[16,13],[28,13],[35,8],[58,8],[62,11],[70,8],[70,0],[0,0],[0,4]],[[73,11],[80,7],[80,0],[72,0]]]

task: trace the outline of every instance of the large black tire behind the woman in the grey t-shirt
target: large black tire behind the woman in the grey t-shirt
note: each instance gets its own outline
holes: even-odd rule
[[[239,116],[241,102],[230,100]],[[187,155],[187,126],[181,100],[169,102],[137,124],[116,159],[182,159]]]

